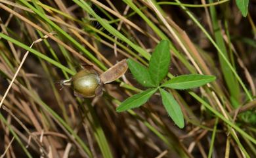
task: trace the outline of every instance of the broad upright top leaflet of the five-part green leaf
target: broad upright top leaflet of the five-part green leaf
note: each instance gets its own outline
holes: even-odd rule
[[[158,86],[163,78],[167,75],[171,62],[169,41],[162,40],[156,46],[150,58],[148,71],[155,85]]]

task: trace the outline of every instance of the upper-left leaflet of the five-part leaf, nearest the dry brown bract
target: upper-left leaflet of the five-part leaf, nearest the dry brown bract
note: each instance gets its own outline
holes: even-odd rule
[[[152,81],[148,69],[134,60],[128,59],[127,64],[133,77],[144,87],[156,87]]]

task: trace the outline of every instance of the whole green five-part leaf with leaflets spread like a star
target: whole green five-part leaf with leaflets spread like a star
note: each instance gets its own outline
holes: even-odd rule
[[[170,89],[192,89],[200,87],[215,80],[215,76],[211,75],[180,75],[160,84],[166,77],[171,61],[171,54],[169,51],[169,41],[162,40],[157,46],[149,62],[149,68],[145,68],[141,64],[129,59],[127,64],[131,73],[137,81],[144,87],[154,87],[154,89],[147,89],[139,94],[135,94],[127,98],[116,109],[117,112],[125,111],[132,108],[138,108],[148,101],[157,90],[160,90],[161,100],[167,113],[173,119],[174,123],[179,127],[184,127],[184,117],[181,108],[173,95],[160,87],[167,87]]]

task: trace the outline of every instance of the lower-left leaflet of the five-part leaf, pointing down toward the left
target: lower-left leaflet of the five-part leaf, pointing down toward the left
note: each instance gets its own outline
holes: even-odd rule
[[[124,102],[122,102],[117,108],[117,112],[125,111],[127,109],[133,109],[133,108],[138,108],[139,106],[142,106],[145,102],[148,101],[150,96],[152,96],[156,89],[147,89],[143,92],[140,92],[139,94],[135,94],[131,96],[130,98],[127,98]]]

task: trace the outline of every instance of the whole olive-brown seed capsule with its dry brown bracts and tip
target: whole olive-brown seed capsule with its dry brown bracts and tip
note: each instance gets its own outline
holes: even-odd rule
[[[60,81],[60,85],[71,86],[75,96],[85,98],[101,96],[103,93],[102,85],[111,83],[121,77],[127,68],[126,59],[123,59],[101,75],[98,75],[93,66],[85,64],[83,69],[72,78]]]

